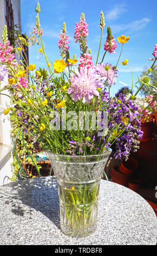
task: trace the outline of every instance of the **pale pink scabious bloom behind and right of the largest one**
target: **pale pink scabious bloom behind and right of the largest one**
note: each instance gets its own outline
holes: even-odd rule
[[[106,66],[109,66],[109,70],[106,70]],[[117,75],[117,69],[115,70],[114,67],[109,63],[101,63],[95,66],[95,70],[97,74],[100,76],[99,79],[102,81],[107,81],[108,85],[111,86],[115,84]]]

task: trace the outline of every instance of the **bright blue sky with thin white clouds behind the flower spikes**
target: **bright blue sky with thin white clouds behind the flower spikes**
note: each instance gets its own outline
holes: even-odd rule
[[[30,35],[35,26],[36,0],[21,0],[22,32]],[[112,95],[123,87],[132,84],[132,77],[127,66],[121,62],[129,60],[129,66],[133,71],[133,81],[136,82],[144,66],[150,66],[149,57],[152,56],[154,45],[157,44],[157,15],[156,0],[41,0],[40,21],[43,28],[43,42],[47,56],[54,62],[60,59],[58,48],[58,34],[62,30],[63,22],[67,25],[67,35],[70,41],[70,57],[76,54],[80,58],[78,43],[74,41],[75,23],[79,22],[81,13],[86,16],[89,35],[87,36],[88,48],[91,48],[93,63],[96,62],[100,42],[101,29],[100,12],[104,13],[106,27],[103,30],[100,58],[102,59],[103,45],[106,41],[107,26],[112,29],[114,38],[120,35],[130,36],[130,40],[124,45],[122,56],[117,66],[119,77],[112,86]],[[117,40],[116,40],[117,42]],[[117,42],[116,53],[107,53],[104,63],[115,65],[121,51],[121,44]],[[44,57],[38,54],[39,46],[31,46],[29,49],[29,63],[36,64],[37,68],[45,66]]]

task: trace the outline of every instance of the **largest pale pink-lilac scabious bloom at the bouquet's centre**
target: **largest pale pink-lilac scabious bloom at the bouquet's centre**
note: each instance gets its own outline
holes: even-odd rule
[[[71,94],[74,101],[81,100],[90,103],[94,95],[99,96],[97,88],[103,88],[103,82],[99,80],[95,69],[80,68],[80,72],[76,71],[76,75],[71,75],[71,87],[67,93]]]

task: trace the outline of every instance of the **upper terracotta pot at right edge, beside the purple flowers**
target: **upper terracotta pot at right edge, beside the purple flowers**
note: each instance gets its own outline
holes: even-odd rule
[[[153,136],[153,120],[145,123],[141,123],[141,131],[143,131],[142,139],[139,139],[141,142],[152,141]]]

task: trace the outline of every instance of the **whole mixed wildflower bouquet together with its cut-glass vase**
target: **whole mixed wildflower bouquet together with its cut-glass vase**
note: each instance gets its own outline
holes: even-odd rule
[[[36,69],[36,65],[29,64],[27,60],[17,64],[4,27],[3,44],[0,45],[0,77],[2,81],[8,74],[8,84],[4,89],[9,89],[13,95],[13,105],[6,109],[1,107],[1,118],[9,114],[17,115],[23,131],[28,132],[47,151],[58,179],[62,230],[68,235],[85,236],[95,227],[99,181],[111,153],[110,148],[114,145],[114,156],[126,160],[130,151],[138,149],[138,139],[142,137],[142,113],[135,100],[141,86],[135,96],[110,96],[110,88],[118,76],[117,65],[129,36],[117,38],[122,46],[117,63],[104,63],[106,54],[115,53],[117,47],[108,27],[104,54],[99,60],[105,27],[102,11],[101,39],[95,65],[87,46],[88,25],[83,13],[74,33],[81,51],[77,65],[75,54],[71,57],[69,53],[65,22],[58,40],[61,57],[54,63],[48,58],[42,41],[44,32],[40,25],[40,11],[40,4],[37,3],[33,33],[38,35],[41,45],[38,52],[45,57],[45,69]],[[18,50],[25,54],[22,48],[18,47]],[[128,60],[122,62],[122,65],[127,64]],[[151,69],[143,77],[149,72]],[[132,83],[132,89],[135,85]],[[64,179],[68,182],[64,182]],[[74,184],[71,184],[71,180]]]

